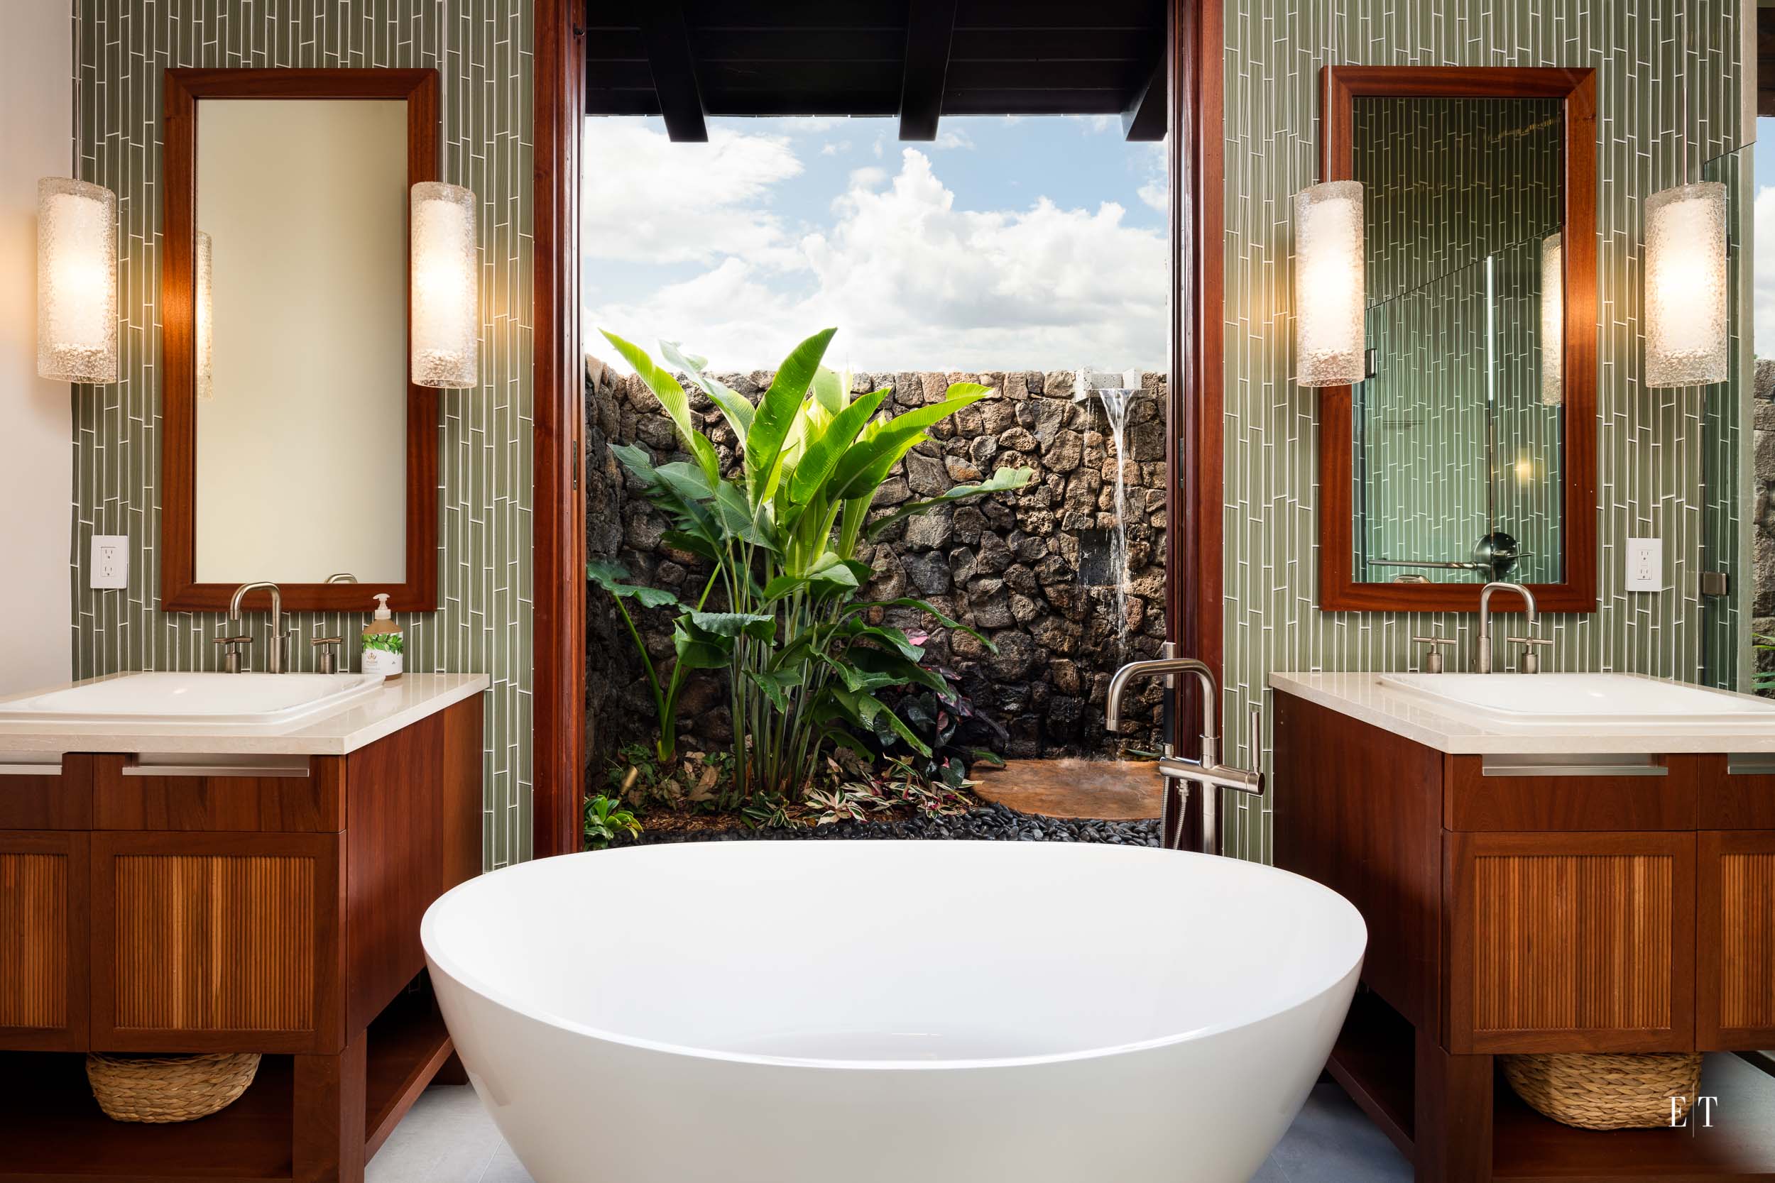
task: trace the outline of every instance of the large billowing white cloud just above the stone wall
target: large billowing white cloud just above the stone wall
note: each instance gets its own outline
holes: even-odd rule
[[[588,309],[588,323],[683,341],[719,369],[770,367],[825,325],[840,328],[832,360],[857,369],[1159,367],[1164,234],[1124,213],[1047,199],[957,209],[930,158],[905,149],[891,184],[854,170],[824,231],[761,257],[726,250],[694,278]]]

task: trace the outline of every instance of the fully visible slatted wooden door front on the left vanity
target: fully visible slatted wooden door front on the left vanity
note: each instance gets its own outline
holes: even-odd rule
[[[335,834],[94,834],[92,1046],[343,1046]]]

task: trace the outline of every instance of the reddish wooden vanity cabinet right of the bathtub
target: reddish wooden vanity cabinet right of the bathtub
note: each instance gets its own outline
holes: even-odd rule
[[[1775,1048],[1775,757],[1759,761],[1487,770],[1276,692],[1276,866],[1369,926],[1329,1069],[1420,1181],[1775,1179],[1775,1077],[1736,1057],[1702,1080],[1736,1112],[1713,1140],[1558,1126],[1493,1059]]]

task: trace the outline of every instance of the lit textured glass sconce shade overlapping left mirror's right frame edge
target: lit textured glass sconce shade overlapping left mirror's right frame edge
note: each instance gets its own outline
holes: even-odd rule
[[[474,193],[421,181],[412,199],[414,381],[481,385],[481,284]]]

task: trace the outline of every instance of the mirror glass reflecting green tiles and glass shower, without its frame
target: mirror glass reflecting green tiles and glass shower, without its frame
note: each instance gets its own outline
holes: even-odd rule
[[[1558,99],[1354,99],[1356,582],[1566,578],[1562,122]]]

